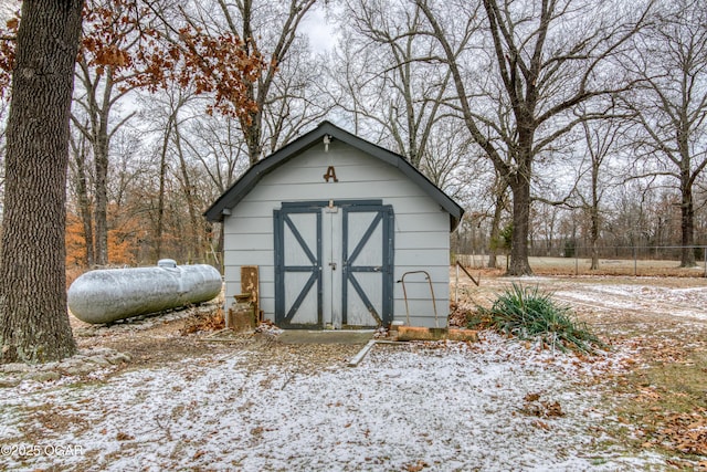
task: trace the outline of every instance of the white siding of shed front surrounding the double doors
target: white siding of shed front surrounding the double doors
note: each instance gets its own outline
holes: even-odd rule
[[[334,166],[338,182],[324,175]],[[273,211],[283,201],[380,199],[392,204],[394,224],[394,282],[410,271],[428,271],[432,277],[440,326],[449,315],[450,216],[397,168],[339,141],[314,146],[264,176],[257,186],[224,218],[226,308],[240,293],[241,266],[257,265],[261,307],[274,319],[275,271]],[[420,274],[405,279],[411,324],[434,326],[430,285]],[[404,321],[401,283],[394,284],[394,318]]]

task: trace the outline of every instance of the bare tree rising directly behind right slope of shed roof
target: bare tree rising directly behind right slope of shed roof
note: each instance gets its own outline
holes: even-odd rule
[[[344,2],[339,23],[350,35],[340,42],[331,75],[344,95],[337,105],[357,115],[357,123],[369,122],[363,134],[413,166],[432,169],[429,157],[441,148],[433,150],[431,140],[449,117],[444,96],[451,73],[430,62],[433,43],[418,34],[422,22],[420,8],[405,0]]]

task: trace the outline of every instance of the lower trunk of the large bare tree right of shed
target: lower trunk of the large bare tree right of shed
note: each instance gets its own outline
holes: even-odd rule
[[[513,238],[508,275],[531,275],[528,262],[528,230],[530,228],[530,181],[520,172],[510,179],[513,192]]]

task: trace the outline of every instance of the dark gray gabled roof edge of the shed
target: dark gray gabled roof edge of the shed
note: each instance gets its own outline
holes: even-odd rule
[[[432,181],[422,175],[422,172],[415,169],[404,157],[369,143],[366,139],[361,139],[329,122],[323,122],[312,132],[257,161],[243,176],[241,176],[241,178],[236,180],[231,188],[223,192],[223,195],[219,197],[203,214],[209,221],[222,221],[224,210],[235,207],[257,185],[260,179],[287,162],[289,159],[300,155],[310,147],[320,144],[325,135],[328,135],[330,138],[341,143],[346,143],[362,153],[397,167],[450,213],[450,230],[453,231],[456,228],[464,214],[464,209],[444,193],[437,186],[432,183]]]

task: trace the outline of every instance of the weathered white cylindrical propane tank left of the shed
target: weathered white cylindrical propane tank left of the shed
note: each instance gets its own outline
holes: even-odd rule
[[[86,272],[68,287],[68,310],[82,322],[112,323],[131,316],[208,302],[221,293],[221,274],[207,264]]]

